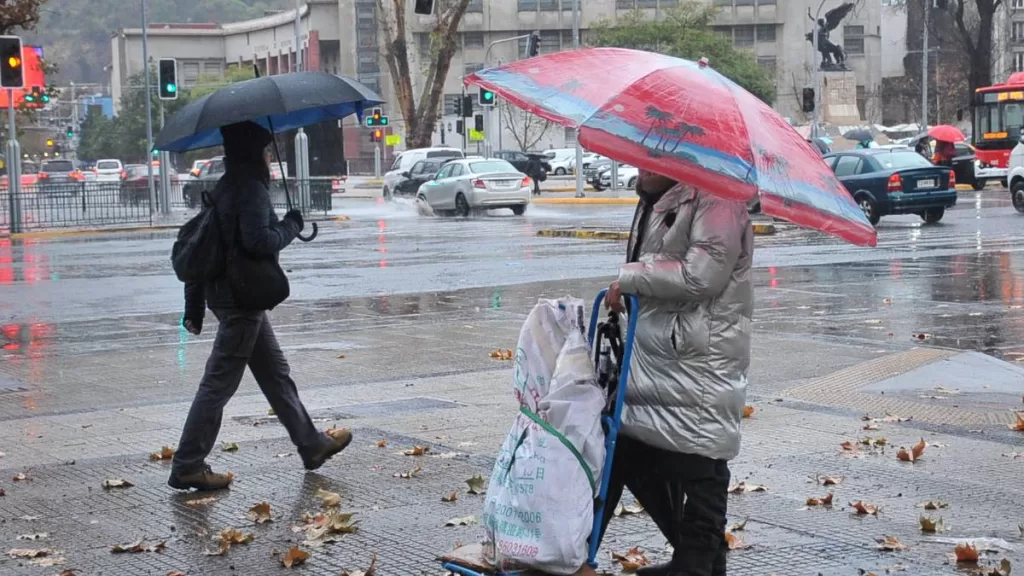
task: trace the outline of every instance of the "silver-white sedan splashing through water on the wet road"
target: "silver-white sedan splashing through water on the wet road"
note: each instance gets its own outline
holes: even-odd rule
[[[529,206],[534,182],[504,160],[452,160],[417,198],[437,214],[468,216],[472,210],[511,208],[521,216]]]

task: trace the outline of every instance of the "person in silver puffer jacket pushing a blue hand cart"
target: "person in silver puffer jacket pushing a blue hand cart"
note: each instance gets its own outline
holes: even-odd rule
[[[623,294],[640,301],[605,526],[629,488],[675,549],[670,564],[639,574],[724,576],[754,233],[740,202],[644,171],[637,194],[628,261],[605,300],[617,310]]]

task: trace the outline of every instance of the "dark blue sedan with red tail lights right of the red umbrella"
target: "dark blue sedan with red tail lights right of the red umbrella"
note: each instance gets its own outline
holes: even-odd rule
[[[926,223],[956,205],[956,176],[909,149],[831,153],[825,163],[871,224],[889,214],[918,214]]]

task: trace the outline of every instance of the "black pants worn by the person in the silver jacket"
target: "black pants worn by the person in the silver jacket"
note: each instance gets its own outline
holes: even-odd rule
[[[672,544],[673,576],[725,576],[729,465],[618,437],[602,534],[629,488]]]

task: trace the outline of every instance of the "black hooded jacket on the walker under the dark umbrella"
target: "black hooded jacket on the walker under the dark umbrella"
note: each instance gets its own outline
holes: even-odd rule
[[[231,124],[220,131],[225,170],[210,196],[217,206],[222,239],[228,249],[241,245],[254,256],[276,258],[301,230],[290,218],[279,220],[270,202],[270,169],[263,158],[270,132],[252,122]],[[185,284],[185,317],[202,320],[205,306],[237,307],[226,278]]]

